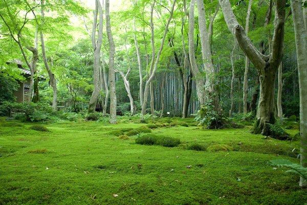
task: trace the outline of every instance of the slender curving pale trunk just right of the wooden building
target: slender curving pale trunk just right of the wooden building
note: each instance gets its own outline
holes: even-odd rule
[[[45,13],[43,11],[43,8],[44,8],[44,4],[45,4],[45,1],[42,0],[41,1],[41,18],[42,18],[42,21],[41,21],[41,27],[43,27],[43,19],[44,19],[44,16],[45,16]],[[52,73],[50,67],[49,67],[49,64],[48,64],[48,61],[47,61],[47,56],[46,56],[46,51],[45,51],[45,41],[43,39],[43,32],[42,30],[40,30],[40,42],[41,42],[41,53],[42,53],[42,58],[43,58],[43,63],[45,64],[45,67],[47,69],[47,72],[48,72],[48,75],[49,75],[49,79],[50,79],[50,85],[53,89],[53,100],[52,100],[52,110],[53,111],[56,111],[57,110],[57,86],[56,86],[56,78],[54,76],[54,74]]]

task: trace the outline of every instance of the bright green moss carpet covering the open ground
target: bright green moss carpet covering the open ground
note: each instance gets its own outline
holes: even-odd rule
[[[60,121],[42,132],[30,129],[34,123],[1,118],[0,204],[306,204],[299,176],[269,163],[299,163],[298,141],[265,139],[250,127],[204,130],[192,119],[185,120],[189,127],[171,123],[180,118],[163,120],[158,124],[173,126],[152,133],[179,138],[178,147],[114,135],[146,126],[129,120]]]

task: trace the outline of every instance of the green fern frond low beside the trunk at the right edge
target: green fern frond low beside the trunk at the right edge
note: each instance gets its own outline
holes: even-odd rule
[[[298,165],[297,163],[293,163],[288,159],[275,159],[271,160],[270,163],[273,166],[290,168],[291,170],[288,170],[287,172],[298,174],[299,176],[307,180],[307,167],[303,167],[301,165]]]

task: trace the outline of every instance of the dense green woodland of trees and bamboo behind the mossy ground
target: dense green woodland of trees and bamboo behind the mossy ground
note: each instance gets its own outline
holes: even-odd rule
[[[196,116],[220,128],[240,116],[269,136],[270,125],[294,115],[307,166],[307,1],[109,4],[1,0],[0,104],[15,100],[19,60],[31,72],[29,102],[101,112],[111,123]]]

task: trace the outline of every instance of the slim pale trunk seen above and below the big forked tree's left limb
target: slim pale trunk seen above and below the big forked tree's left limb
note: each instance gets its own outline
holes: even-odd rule
[[[248,3],[248,10],[246,16],[246,23],[245,23],[245,32],[246,35],[249,32],[249,17],[252,10],[253,0],[250,0]],[[248,70],[249,70],[250,61],[247,56],[245,56],[245,71],[244,71],[244,79],[243,79],[243,113],[247,113],[247,92],[248,92]]]

